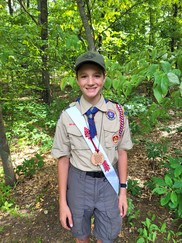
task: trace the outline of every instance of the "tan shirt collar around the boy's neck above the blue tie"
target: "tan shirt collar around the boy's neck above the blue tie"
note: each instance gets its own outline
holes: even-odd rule
[[[82,95],[80,98],[81,113],[85,114],[85,112],[87,112],[92,106],[93,105],[90,104],[87,100],[85,100],[85,98]],[[107,111],[107,105],[103,95],[101,95],[99,102],[96,105],[94,105],[94,107],[97,107],[100,111],[103,112]]]

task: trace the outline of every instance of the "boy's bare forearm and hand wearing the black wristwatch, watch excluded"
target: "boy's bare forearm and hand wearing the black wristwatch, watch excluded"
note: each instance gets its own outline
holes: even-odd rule
[[[118,151],[118,176],[120,183],[127,181],[127,152],[125,150]],[[119,209],[122,217],[126,216],[128,203],[127,203],[127,190],[121,188],[119,191]]]

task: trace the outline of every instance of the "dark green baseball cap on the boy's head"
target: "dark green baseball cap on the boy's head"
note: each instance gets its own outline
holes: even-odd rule
[[[75,71],[77,71],[78,68],[86,62],[96,63],[106,70],[103,56],[96,51],[88,51],[77,58],[75,63]]]

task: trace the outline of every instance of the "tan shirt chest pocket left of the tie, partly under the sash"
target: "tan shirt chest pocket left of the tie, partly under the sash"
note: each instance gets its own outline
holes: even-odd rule
[[[68,127],[68,136],[70,139],[71,149],[83,150],[88,149],[88,145],[81,134],[80,130],[76,126]]]

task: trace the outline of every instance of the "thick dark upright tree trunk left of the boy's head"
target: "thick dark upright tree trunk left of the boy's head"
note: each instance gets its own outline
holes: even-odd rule
[[[42,58],[42,85],[43,95],[42,98],[45,103],[50,104],[51,93],[50,93],[50,76],[48,71],[48,8],[47,0],[39,0],[38,8],[40,11],[39,25],[41,26],[41,39],[43,45],[41,46],[41,58]]]

